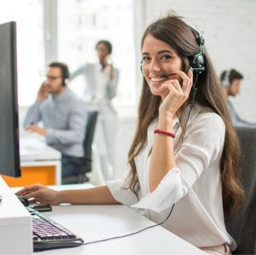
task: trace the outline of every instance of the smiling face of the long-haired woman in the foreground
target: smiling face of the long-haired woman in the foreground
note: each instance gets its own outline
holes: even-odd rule
[[[167,80],[180,80],[180,76],[177,75],[160,78],[161,74],[175,74],[175,70],[183,70],[182,59],[175,49],[147,34],[142,46],[142,73],[153,95],[160,95],[163,98],[167,91],[159,90],[161,84]]]

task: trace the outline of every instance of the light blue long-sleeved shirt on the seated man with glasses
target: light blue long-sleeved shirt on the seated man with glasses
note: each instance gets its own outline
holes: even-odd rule
[[[86,104],[67,88],[58,97],[50,95],[30,106],[23,126],[42,121],[48,145],[67,156],[83,157],[86,116]]]

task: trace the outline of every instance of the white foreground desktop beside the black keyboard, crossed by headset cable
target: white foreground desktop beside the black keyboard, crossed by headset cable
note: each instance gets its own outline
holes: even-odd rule
[[[58,190],[89,188],[91,185],[53,186]],[[16,191],[17,188],[13,189]],[[72,230],[84,242],[126,235],[154,225],[141,214],[124,205],[59,205],[45,212],[54,221]],[[170,231],[156,226],[142,233],[81,247],[41,251],[44,254],[205,254]]]

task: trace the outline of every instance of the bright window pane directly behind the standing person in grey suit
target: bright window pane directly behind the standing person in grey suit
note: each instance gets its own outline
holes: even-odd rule
[[[74,71],[85,62],[96,62],[95,43],[107,39],[113,45],[112,62],[119,69],[114,103],[135,104],[135,43],[133,0],[58,1],[58,60]],[[70,84],[77,95],[85,81]]]

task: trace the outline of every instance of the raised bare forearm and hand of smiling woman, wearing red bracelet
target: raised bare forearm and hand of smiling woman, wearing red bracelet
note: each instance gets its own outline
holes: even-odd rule
[[[189,69],[188,76],[183,71],[176,71],[182,78],[182,86],[178,80],[170,80],[163,83],[161,90],[166,90],[166,97],[159,108],[159,122],[157,128],[173,133],[173,118],[180,106],[189,97],[193,81],[193,73]],[[159,185],[168,171],[176,167],[173,152],[173,137],[158,134],[155,135],[151,151],[151,163],[149,167],[149,191],[152,192]]]

